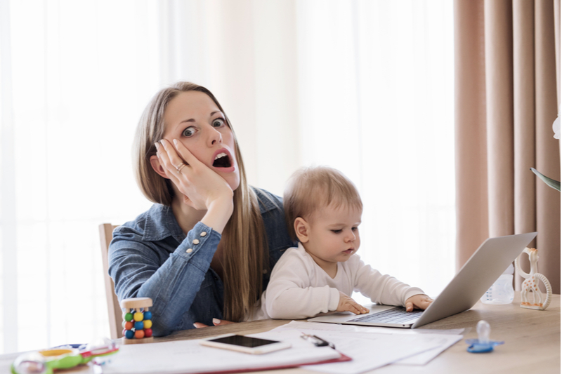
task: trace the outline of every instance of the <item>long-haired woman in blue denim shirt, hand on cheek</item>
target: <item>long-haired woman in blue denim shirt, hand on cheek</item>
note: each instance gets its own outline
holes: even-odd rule
[[[109,272],[119,300],[151,298],[155,336],[251,318],[294,243],[281,199],[247,185],[214,95],[188,82],[157,93],[133,154],[138,185],[155,204],[113,232]]]

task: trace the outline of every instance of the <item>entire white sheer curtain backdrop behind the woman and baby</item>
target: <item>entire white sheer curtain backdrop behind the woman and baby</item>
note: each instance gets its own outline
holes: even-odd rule
[[[207,86],[252,185],[359,187],[360,254],[436,295],[454,274],[452,5],[0,0],[0,352],[109,335],[98,225],[132,220],[152,95]]]

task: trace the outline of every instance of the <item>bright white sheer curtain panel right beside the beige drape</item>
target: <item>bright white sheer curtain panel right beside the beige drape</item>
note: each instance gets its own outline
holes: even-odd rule
[[[452,4],[301,1],[297,15],[301,163],[358,185],[367,263],[436,296],[455,274]]]

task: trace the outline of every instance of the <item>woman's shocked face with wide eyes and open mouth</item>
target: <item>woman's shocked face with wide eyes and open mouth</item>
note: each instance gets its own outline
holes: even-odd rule
[[[199,91],[179,93],[164,112],[164,139],[177,139],[199,161],[221,175],[235,189],[240,171],[235,154],[234,134],[223,112],[207,94]]]

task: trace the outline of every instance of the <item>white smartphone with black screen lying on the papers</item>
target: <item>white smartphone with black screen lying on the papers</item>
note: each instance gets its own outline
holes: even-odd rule
[[[218,338],[204,339],[201,340],[201,344],[209,347],[230,349],[249,354],[263,354],[291,347],[291,343],[287,342],[251,338],[250,336],[235,334],[221,335]]]

